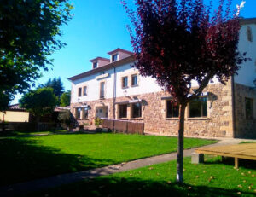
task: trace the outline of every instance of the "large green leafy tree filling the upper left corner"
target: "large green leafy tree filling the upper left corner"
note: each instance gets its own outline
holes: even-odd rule
[[[0,110],[48,70],[71,9],[68,0],[0,0]]]

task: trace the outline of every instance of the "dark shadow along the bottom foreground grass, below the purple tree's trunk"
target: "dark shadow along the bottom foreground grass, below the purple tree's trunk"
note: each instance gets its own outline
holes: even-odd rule
[[[49,189],[29,196],[239,196],[239,190],[192,186],[141,180],[138,178],[98,177],[80,183]],[[252,193],[241,192],[253,196]]]

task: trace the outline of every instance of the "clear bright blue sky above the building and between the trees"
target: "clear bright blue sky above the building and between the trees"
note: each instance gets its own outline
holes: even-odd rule
[[[126,0],[128,3],[133,0]],[[207,0],[208,1],[208,0]],[[108,57],[108,51],[116,48],[131,50],[130,36],[126,25],[130,20],[120,0],[71,0],[73,19],[62,26],[62,42],[67,46],[56,51],[51,58],[54,67],[37,80],[44,84],[49,78],[61,77],[66,90],[71,89],[67,78],[91,69],[89,60],[96,56]],[[218,2],[213,0],[213,2]],[[233,0],[232,8],[241,0]],[[241,16],[256,17],[256,1],[247,0]],[[12,103],[17,103],[20,95]]]

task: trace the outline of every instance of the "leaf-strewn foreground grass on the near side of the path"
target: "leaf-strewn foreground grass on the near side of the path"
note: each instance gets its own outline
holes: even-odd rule
[[[256,168],[234,169],[220,157],[192,165],[184,159],[184,184],[175,182],[176,161],[53,188],[31,196],[256,196]]]

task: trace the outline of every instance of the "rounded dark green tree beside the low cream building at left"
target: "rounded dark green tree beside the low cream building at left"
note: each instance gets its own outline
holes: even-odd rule
[[[52,88],[31,90],[20,99],[20,107],[24,107],[32,115],[40,117],[53,113],[57,98]]]

